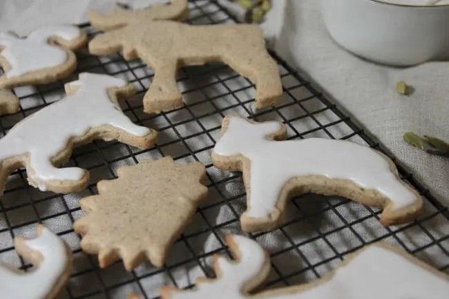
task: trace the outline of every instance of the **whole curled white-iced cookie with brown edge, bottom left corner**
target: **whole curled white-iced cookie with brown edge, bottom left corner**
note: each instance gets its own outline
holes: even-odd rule
[[[37,227],[37,238],[15,239],[17,253],[36,269],[19,271],[0,262],[1,299],[52,299],[64,288],[72,269],[72,251],[44,226]]]

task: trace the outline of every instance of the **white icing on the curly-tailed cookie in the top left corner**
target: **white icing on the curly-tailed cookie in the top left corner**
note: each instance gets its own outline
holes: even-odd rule
[[[67,61],[66,51],[60,46],[48,44],[48,38],[58,36],[70,41],[80,35],[79,28],[70,25],[44,26],[23,39],[0,32],[0,46],[3,47],[0,54],[11,66],[6,76],[15,77],[64,64]]]

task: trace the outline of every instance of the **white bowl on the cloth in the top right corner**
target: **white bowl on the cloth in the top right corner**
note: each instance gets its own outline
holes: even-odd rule
[[[411,66],[449,55],[449,6],[404,6],[373,0],[321,0],[335,41],[356,55]]]

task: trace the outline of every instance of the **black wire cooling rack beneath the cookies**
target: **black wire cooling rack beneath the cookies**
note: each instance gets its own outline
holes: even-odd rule
[[[190,6],[190,23],[236,21],[216,1],[192,1]],[[90,36],[98,33],[88,24],[81,27]],[[95,141],[77,148],[69,164],[87,168],[91,175],[88,189],[80,193],[40,192],[28,186],[23,170],[12,173],[0,200],[0,260],[30,269],[31,265],[16,255],[13,239],[17,235],[34,236],[36,223],[41,222],[58,233],[73,250],[73,273],[61,298],[127,298],[131,291],[140,293],[142,298],[157,298],[164,284],[192,287],[195,277],[213,276],[211,256],[214,253],[231,256],[223,236],[241,233],[238,219],[245,210],[241,175],[219,171],[210,160],[225,115],[240,113],[258,121],[278,119],[287,124],[290,139],[312,136],[350,139],[381,150],[379,143],[331,100],[276,53],[272,55],[278,61],[285,90],[284,102],[276,108],[254,110],[254,84],[227,66],[211,64],[180,70],[182,108],[161,115],[146,115],[142,113],[142,96],[151,84],[152,70],[138,59],[126,62],[120,54],[94,57],[87,52],[79,53],[77,73],[108,73],[135,84],[140,93],[126,99],[122,108],[137,124],[160,132],[157,145],[142,151],[118,142]],[[15,115],[0,117],[3,134],[23,117],[60,99],[64,95],[63,84],[76,78],[74,74],[57,84],[15,88],[14,92],[21,99],[21,110]],[[96,183],[114,178],[119,166],[166,155],[178,162],[200,161],[207,167],[207,202],[200,206],[191,224],[173,245],[164,267],[155,268],[145,263],[135,271],[126,272],[122,262],[116,262],[107,269],[99,269],[97,258],[81,251],[80,237],[73,231],[73,221],[83,215],[78,200],[95,194]],[[414,180],[412,174],[401,167],[399,171],[426,197],[425,211],[419,220],[404,226],[383,227],[379,224],[377,209],[338,197],[295,197],[287,205],[287,218],[280,229],[250,235],[271,255],[273,271],[264,287],[316,280],[338,266],[347,253],[380,240],[397,244],[449,273],[448,209]]]

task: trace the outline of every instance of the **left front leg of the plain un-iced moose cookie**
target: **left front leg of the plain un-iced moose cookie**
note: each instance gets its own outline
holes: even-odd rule
[[[161,60],[162,63],[154,66],[153,82],[144,96],[146,113],[160,113],[182,106],[182,95],[176,84],[178,61],[168,57]]]

